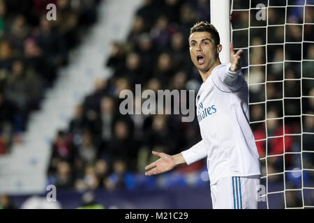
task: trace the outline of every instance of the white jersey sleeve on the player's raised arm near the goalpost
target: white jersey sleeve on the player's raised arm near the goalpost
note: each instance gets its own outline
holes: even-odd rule
[[[223,92],[233,93],[239,91],[244,84],[243,73],[241,70],[237,72],[230,71],[231,63],[228,66],[225,66],[225,70],[220,72],[219,75],[212,75],[212,80],[216,87]]]

